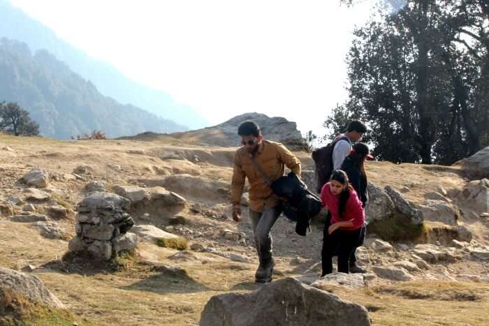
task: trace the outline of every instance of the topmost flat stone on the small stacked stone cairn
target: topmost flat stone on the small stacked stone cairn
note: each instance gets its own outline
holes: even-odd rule
[[[129,199],[119,196],[115,193],[92,193],[82,200],[78,205],[78,212],[96,212],[96,211],[120,211],[129,209],[131,202]]]

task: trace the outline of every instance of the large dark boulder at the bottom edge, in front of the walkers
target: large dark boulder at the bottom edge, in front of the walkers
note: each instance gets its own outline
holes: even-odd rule
[[[200,326],[370,325],[367,309],[292,278],[248,293],[211,297]]]

